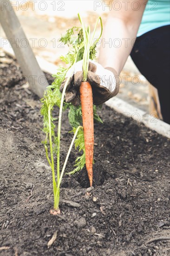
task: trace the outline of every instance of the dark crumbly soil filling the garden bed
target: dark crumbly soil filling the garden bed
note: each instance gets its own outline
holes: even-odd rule
[[[1,74],[14,74],[12,65],[17,67],[13,61]],[[167,138],[103,106],[104,124],[96,123],[94,129],[94,188],[88,189],[85,169],[65,175],[61,214],[52,216],[52,175],[41,144],[40,101],[19,79],[3,83],[0,103],[1,256],[170,255]],[[61,164],[72,139],[70,129],[65,113]],[[67,171],[77,156],[73,150]],[[56,231],[57,239],[48,248]]]

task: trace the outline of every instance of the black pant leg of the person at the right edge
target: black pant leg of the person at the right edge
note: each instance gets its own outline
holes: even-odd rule
[[[170,123],[170,26],[138,37],[131,58],[141,74],[157,88],[163,121]]]

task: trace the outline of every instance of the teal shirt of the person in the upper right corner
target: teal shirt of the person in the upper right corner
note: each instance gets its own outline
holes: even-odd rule
[[[149,0],[137,36],[170,24],[170,0]]]

